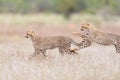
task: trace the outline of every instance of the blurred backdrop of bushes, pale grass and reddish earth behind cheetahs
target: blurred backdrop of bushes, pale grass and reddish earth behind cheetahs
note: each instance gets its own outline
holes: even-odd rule
[[[23,37],[28,30],[41,36],[79,31],[80,24],[119,34],[120,0],[0,0],[0,37]],[[14,38],[12,38],[14,39]]]

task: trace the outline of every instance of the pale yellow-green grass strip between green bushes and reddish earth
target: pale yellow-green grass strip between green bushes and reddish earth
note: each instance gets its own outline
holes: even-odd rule
[[[120,21],[119,16],[103,16],[95,14],[73,14],[69,20],[66,20],[62,15],[52,13],[41,14],[1,14],[0,24],[8,25],[26,25],[26,24],[42,24],[42,25],[61,25],[69,22],[82,23],[85,21],[101,24],[104,22],[116,22]]]

